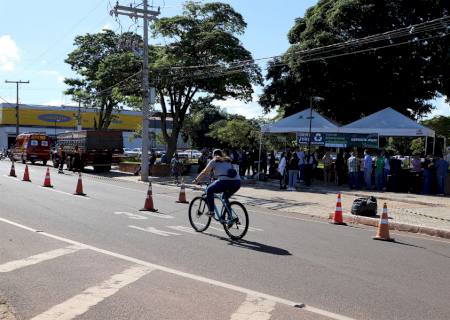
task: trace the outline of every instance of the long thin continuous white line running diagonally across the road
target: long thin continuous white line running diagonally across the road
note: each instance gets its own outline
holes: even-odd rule
[[[2,221],[4,223],[7,223],[9,225],[16,226],[18,228],[24,229],[24,230],[28,230],[28,231],[31,231],[31,232],[37,232],[36,229],[30,228],[28,226],[25,226],[23,224],[20,224],[20,223],[17,223],[17,222],[8,220],[8,219],[0,218],[0,221]],[[192,274],[192,273],[187,273],[187,272],[179,271],[179,270],[176,270],[176,269],[168,268],[168,267],[165,267],[165,266],[157,265],[157,264],[145,261],[145,260],[141,260],[141,259],[133,258],[133,257],[127,256],[127,255],[124,255],[124,254],[120,254],[120,253],[108,251],[108,250],[105,250],[105,249],[101,249],[101,248],[98,248],[98,247],[95,247],[95,246],[84,244],[84,243],[79,242],[79,241],[75,241],[75,240],[71,240],[71,239],[68,239],[68,238],[60,237],[60,236],[57,236],[57,235],[54,235],[54,234],[51,234],[51,233],[39,232],[39,234],[44,236],[44,237],[48,237],[48,238],[51,238],[51,239],[56,239],[56,240],[59,240],[59,241],[65,242],[65,243],[69,243],[69,244],[72,244],[72,245],[76,245],[76,246],[81,246],[81,247],[83,247],[85,249],[89,249],[89,250],[92,250],[94,252],[102,253],[102,254],[105,254],[105,255],[117,258],[117,259],[121,259],[121,260],[128,261],[128,262],[131,262],[131,263],[139,264],[139,265],[142,265],[142,266],[145,266],[145,267],[154,268],[156,270],[167,272],[167,273],[170,273],[170,274],[173,274],[173,275],[177,275],[177,276],[180,276],[180,277],[183,277],[183,278],[186,278],[186,279],[196,280],[196,281],[199,281],[199,282],[202,282],[202,283],[207,283],[207,284],[210,284],[210,285],[213,285],[213,286],[217,286],[217,287],[220,287],[220,288],[225,288],[225,289],[229,289],[229,290],[232,290],[232,291],[241,292],[241,293],[244,293],[244,294],[247,294],[247,295],[257,296],[257,297],[264,298],[264,299],[267,299],[267,300],[271,300],[271,301],[274,301],[274,302],[277,302],[277,303],[281,303],[281,304],[284,304],[284,305],[287,305],[287,306],[290,306],[290,307],[308,308],[307,309],[308,311],[310,311],[312,313],[316,313],[316,314],[327,313],[327,316],[329,318],[332,318],[332,319],[335,319],[335,320],[354,320],[352,318],[349,318],[349,317],[346,317],[346,316],[343,316],[343,315],[340,315],[340,314],[337,314],[337,313],[332,313],[332,312],[328,312],[328,311],[325,311],[325,310],[322,310],[322,309],[305,306],[305,304],[303,304],[303,303],[287,300],[287,299],[276,297],[276,296],[273,296],[273,295],[270,295],[270,294],[266,294],[266,293],[258,292],[258,291],[255,291],[255,290],[251,290],[251,289],[243,288],[243,287],[240,287],[240,286],[236,286],[236,285],[233,285],[233,284],[229,284],[229,283],[217,281],[217,280],[214,280],[214,279],[206,278],[206,277],[203,277],[203,276],[195,275],[195,274]]]

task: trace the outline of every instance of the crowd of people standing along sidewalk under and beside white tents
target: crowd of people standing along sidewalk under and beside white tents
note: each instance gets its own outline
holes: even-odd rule
[[[343,150],[337,153],[321,150],[309,153],[296,148],[275,154],[265,150],[224,149],[233,167],[244,179],[279,179],[280,189],[294,191],[310,186],[313,181],[325,185],[348,184],[350,189],[402,191],[439,195],[445,194],[449,163],[444,158],[415,156],[405,167],[402,160],[385,150]],[[198,159],[198,173],[202,172],[212,154],[204,149]],[[171,174],[178,183],[182,159],[177,154],[171,159]],[[320,163],[320,165],[319,165]]]

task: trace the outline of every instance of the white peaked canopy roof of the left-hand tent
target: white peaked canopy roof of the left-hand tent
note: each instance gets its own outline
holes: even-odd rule
[[[264,133],[309,132],[310,108],[262,127]],[[311,132],[338,132],[339,124],[312,111]]]

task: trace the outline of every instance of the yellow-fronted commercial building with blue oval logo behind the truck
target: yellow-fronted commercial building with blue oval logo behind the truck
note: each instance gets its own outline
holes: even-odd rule
[[[94,129],[97,117],[95,109],[81,108],[81,127],[83,130]],[[78,107],[69,106],[41,106],[19,105],[19,133],[44,132],[52,138],[58,134],[77,130]],[[139,148],[142,144],[140,138],[134,137],[134,132],[142,124],[142,113],[123,110],[114,113],[114,119],[109,127],[111,130],[120,130],[123,133],[124,148]],[[172,127],[172,120],[167,120],[167,127]],[[161,133],[159,117],[152,117],[149,121],[150,147],[165,149],[156,136]],[[16,139],[16,107],[13,104],[0,103],[0,148],[8,148]],[[179,148],[188,145],[180,138]]]

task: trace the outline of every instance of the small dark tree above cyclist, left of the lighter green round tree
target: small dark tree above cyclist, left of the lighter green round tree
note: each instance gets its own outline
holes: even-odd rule
[[[193,147],[218,147],[220,142],[207,133],[210,125],[226,118],[227,114],[211,104],[211,99],[199,98],[190,107],[189,115],[183,124],[182,135],[185,140],[190,139]]]

